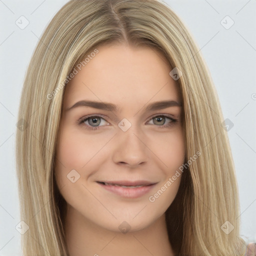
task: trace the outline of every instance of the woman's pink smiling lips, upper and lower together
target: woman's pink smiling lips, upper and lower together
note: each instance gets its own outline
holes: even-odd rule
[[[103,184],[100,182],[106,182],[109,184]],[[118,181],[97,181],[97,183],[103,187],[104,189],[113,192],[121,197],[126,198],[138,198],[146,193],[148,193],[156,183],[143,181],[143,180],[137,180],[137,181],[125,181],[125,180],[118,180]],[[119,185],[117,185],[119,184]],[[142,185],[139,187],[122,187],[120,185],[126,185],[126,186],[136,186],[136,185]]]

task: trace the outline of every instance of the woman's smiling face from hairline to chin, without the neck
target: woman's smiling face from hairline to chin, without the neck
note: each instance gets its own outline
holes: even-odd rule
[[[162,216],[177,193],[181,175],[172,177],[185,153],[181,98],[161,52],[97,49],[65,88],[56,182],[84,220],[135,231]]]

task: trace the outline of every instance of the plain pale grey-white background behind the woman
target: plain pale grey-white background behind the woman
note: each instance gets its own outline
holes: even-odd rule
[[[43,29],[67,0],[0,0],[0,255],[20,255],[14,159],[17,110],[24,73]],[[199,45],[218,91],[239,187],[241,233],[256,241],[256,0],[165,0]],[[15,21],[25,16],[20,29]],[[220,21],[230,16],[226,29]],[[226,21],[225,21],[226,20]],[[230,24],[224,19],[226,25]],[[253,94],[254,93],[254,94]],[[253,97],[254,95],[254,97]],[[254,99],[253,99],[254,98]]]

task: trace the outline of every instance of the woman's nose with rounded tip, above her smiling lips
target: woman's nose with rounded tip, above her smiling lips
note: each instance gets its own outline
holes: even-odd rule
[[[116,164],[134,168],[148,161],[149,150],[143,133],[139,133],[132,128],[125,132],[119,130],[115,139],[116,145],[112,157]]]

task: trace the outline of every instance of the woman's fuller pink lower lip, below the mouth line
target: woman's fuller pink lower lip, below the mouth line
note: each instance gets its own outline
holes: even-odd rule
[[[138,198],[148,193],[156,185],[155,183],[152,185],[139,186],[139,187],[122,187],[122,186],[115,186],[115,185],[104,185],[102,183],[98,183],[98,184],[101,185],[106,190],[126,198]]]

